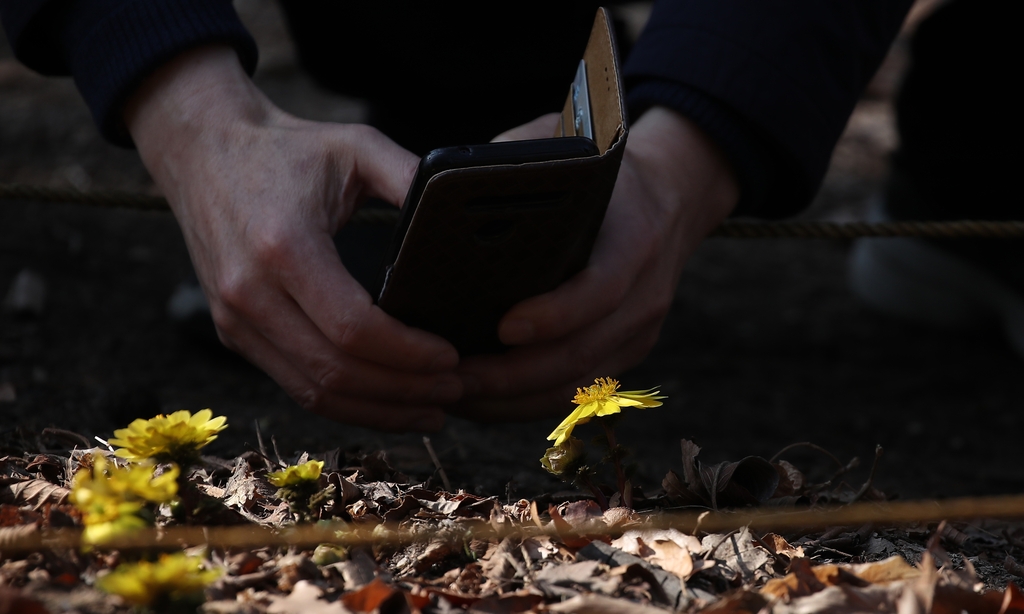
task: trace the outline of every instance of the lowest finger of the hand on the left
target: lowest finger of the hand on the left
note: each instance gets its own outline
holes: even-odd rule
[[[245,355],[273,378],[304,408],[345,424],[385,431],[437,431],[444,415],[437,406],[408,405],[338,394],[318,386],[291,364],[255,328],[239,321],[225,345]]]

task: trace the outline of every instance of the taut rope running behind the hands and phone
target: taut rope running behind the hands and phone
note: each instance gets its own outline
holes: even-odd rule
[[[0,183],[0,201],[68,203],[135,211],[168,211],[167,200],[115,190],[81,191],[17,183]],[[349,223],[393,225],[396,210],[360,209]],[[1020,238],[1024,221],[955,220],[944,222],[745,222],[726,220],[711,236],[729,238],[828,238],[913,236],[929,238]]]

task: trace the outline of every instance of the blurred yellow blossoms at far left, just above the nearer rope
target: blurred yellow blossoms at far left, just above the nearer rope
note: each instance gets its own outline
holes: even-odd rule
[[[92,468],[82,469],[72,480],[71,502],[82,512],[85,543],[99,543],[122,533],[144,527],[138,513],[147,502],[170,501],[178,492],[178,468],[171,466],[159,477],[156,467],[118,467],[102,454],[94,454]]]

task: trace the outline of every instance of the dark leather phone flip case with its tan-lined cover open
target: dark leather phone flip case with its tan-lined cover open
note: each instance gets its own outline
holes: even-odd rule
[[[464,355],[498,352],[505,347],[498,323],[509,308],[587,264],[626,146],[609,25],[599,9],[584,51],[600,155],[433,176],[378,298],[386,312],[444,337]],[[556,137],[575,135],[573,116],[570,91]]]

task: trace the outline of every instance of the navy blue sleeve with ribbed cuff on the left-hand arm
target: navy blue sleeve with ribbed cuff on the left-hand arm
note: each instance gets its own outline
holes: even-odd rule
[[[130,146],[125,101],[164,62],[209,43],[256,69],[256,43],[230,0],[0,0],[16,57],[44,75],[71,75],[109,140]]]

